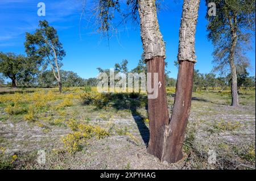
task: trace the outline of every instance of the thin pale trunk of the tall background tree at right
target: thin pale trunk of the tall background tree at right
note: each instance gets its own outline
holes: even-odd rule
[[[237,44],[237,31],[236,31],[236,22],[237,15],[235,14],[233,17],[234,22],[232,22],[232,18],[229,17],[229,25],[232,33],[232,43],[230,46],[229,53],[229,65],[231,70],[232,84],[231,84],[231,94],[232,94],[232,103],[231,106],[239,106],[238,104],[238,93],[237,93],[237,69],[236,64],[234,62],[234,51]]]

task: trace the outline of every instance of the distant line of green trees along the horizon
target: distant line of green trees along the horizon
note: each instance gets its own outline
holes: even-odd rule
[[[146,64],[144,64],[143,57],[139,60],[138,65],[131,69],[127,68],[128,61],[123,60],[121,63],[114,65],[116,73],[147,73]],[[3,85],[5,78],[10,78],[9,86],[39,86],[39,87],[55,87],[58,86],[57,79],[55,78],[52,70],[40,71],[34,61],[30,58],[16,55],[14,53],[0,53],[0,85]],[[167,68],[167,64],[166,64]],[[99,73],[105,72],[109,74],[109,69],[97,68]],[[169,77],[169,71],[166,70],[166,86],[175,87],[176,79]],[[97,86],[97,78],[84,79],[73,71],[60,70],[61,82],[64,87],[81,87],[81,86]],[[200,73],[195,70],[193,74],[193,91],[209,90],[218,88],[219,91],[230,87],[232,83],[231,74],[227,76],[217,77],[214,73]],[[240,87],[255,87],[255,76],[250,77],[247,70],[237,73],[237,86]]]

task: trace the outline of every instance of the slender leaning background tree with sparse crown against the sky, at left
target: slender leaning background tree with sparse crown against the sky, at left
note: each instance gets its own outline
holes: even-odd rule
[[[62,90],[61,83],[61,60],[65,56],[62,44],[55,28],[49,26],[46,20],[39,21],[39,28],[34,34],[26,33],[26,53],[35,58],[46,68],[51,66],[52,72],[59,85],[59,91]]]

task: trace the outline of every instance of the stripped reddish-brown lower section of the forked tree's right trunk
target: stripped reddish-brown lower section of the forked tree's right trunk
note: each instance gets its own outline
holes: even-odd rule
[[[177,162],[183,157],[182,145],[191,108],[193,70],[194,62],[180,62],[174,108],[170,125],[165,132],[161,157],[162,161],[167,161],[168,163]]]

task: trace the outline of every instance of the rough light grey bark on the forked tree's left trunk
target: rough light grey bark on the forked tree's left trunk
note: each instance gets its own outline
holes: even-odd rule
[[[145,61],[154,57],[166,57],[163,36],[159,30],[155,0],[139,0],[141,39]]]

